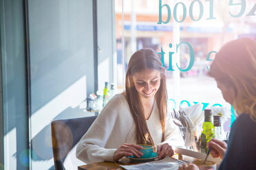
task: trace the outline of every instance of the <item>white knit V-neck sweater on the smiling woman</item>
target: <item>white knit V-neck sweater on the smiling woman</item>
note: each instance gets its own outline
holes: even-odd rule
[[[183,145],[178,127],[168,115],[165,125],[164,143],[172,146]],[[147,120],[147,126],[155,145],[161,145],[162,128],[156,104]],[[136,125],[127,100],[118,94],[107,103],[81,138],[76,148],[76,157],[85,163],[113,161],[114,152],[123,143],[136,144]]]

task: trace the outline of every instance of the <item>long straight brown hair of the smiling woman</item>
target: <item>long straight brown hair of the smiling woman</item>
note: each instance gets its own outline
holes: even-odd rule
[[[154,145],[151,134],[149,133],[149,128],[147,127],[138,92],[131,77],[134,73],[145,69],[156,69],[160,71],[160,87],[156,92],[155,99],[162,125],[162,141],[164,141],[165,114],[167,112],[166,77],[160,57],[153,49],[140,49],[131,56],[125,77],[125,91],[129,108],[136,124],[137,144]]]

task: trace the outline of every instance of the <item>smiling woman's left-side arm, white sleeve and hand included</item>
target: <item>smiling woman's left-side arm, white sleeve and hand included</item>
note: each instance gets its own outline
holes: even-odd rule
[[[125,98],[116,95],[100,112],[76,148],[76,157],[83,162],[117,161],[122,156],[142,156],[134,145],[134,119]]]

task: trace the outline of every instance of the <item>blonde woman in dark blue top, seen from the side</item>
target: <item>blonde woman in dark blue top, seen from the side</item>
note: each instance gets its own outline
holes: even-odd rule
[[[241,38],[226,43],[216,54],[208,74],[238,114],[228,145],[217,139],[208,143],[212,156],[223,159],[219,170],[256,169],[256,42]],[[191,164],[180,169],[198,167]]]

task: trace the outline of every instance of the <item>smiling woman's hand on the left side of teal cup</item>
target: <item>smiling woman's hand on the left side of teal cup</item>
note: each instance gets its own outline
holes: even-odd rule
[[[139,145],[135,145],[135,144],[124,143],[122,144],[121,147],[119,147],[115,151],[113,160],[118,161],[123,156],[132,156],[132,155],[140,158],[140,156],[142,156],[143,154],[141,151],[138,151],[138,149],[143,149],[143,147],[140,147]]]

